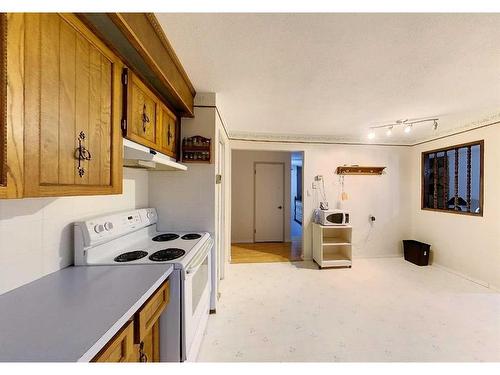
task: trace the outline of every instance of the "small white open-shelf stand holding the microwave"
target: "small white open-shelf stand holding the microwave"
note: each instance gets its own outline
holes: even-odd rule
[[[352,227],[313,223],[313,259],[320,268],[352,266]]]

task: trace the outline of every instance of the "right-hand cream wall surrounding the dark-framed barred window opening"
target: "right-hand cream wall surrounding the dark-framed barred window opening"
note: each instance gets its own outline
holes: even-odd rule
[[[420,209],[421,153],[484,139],[484,216]],[[500,289],[500,125],[411,148],[412,233],[431,244],[434,263]]]

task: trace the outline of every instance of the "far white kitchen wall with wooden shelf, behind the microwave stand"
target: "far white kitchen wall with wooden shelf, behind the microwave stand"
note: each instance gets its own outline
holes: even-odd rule
[[[345,189],[349,194],[345,208],[351,212],[355,256],[401,255],[401,240],[411,234],[408,147],[231,141],[231,148],[304,152],[304,259],[312,257],[312,214],[318,201],[316,191],[311,188],[314,176],[324,176],[327,198],[335,207],[339,194],[338,176],[334,174],[337,166],[386,166],[386,174],[382,176],[345,178]],[[234,164],[234,160],[232,162]],[[373,226],[368,221],[370,214],[377,218]],[[232,212],[233,222],[234,215]],[[232,240],[234,242],[234,238]]]

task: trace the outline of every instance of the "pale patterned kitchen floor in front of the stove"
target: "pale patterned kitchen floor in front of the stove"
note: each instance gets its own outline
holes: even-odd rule
[[[199,361],[500,361],[500,293],[401,258],[232,264]]]

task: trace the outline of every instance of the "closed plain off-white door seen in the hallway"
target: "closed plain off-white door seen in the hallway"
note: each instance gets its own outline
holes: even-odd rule
[[[283,242],[285,164],[255,163],[255,242]]]

